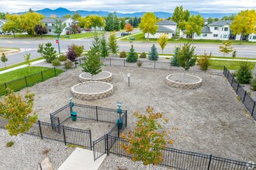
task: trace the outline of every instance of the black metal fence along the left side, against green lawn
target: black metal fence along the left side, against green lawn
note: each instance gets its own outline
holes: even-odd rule
[[[54,67],[54,68],[40,71],[39,73],[34,73],[29,76],[24,76],[16,80],[2,83],[0,84],[0,96],[6,94],[6,88],[19,91],[25,87],[31,87],[36,83],[50,79],[53,76],[57,76],[58,73],[59,72]]]

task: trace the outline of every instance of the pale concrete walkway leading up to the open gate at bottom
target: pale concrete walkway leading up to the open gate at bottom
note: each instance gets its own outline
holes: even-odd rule
[[[57,170],[97,170],[105,158],[106,154],[94,161],[93,151],[76,148]]]

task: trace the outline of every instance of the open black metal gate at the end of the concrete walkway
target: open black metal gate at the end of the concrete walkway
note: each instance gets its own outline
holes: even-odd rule
[[[102,155],[106,154],[107,144],[106,144],[106,135],[102,136],[102,138],[93,141],[93,157],[94,161],[100,158]]]

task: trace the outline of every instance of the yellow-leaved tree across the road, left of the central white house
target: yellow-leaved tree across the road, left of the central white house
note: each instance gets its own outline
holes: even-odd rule
[[[157,32],[157,18],[154,12],[146,12],[142,17],[139,24],[139,28],[144,34],[147,34],[147,40],[149,40],[149,34],[154,35]]]

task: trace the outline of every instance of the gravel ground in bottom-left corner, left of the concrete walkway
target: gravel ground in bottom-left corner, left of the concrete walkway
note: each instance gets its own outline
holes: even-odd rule
[[[14,141],[12,147],[6,147],[8,141]],[[35,170],[38,163],[48,156],[54,169],[57,169],[71,155],[74,148],[58,141],[41,140],[35,136],[23,134],[10,137],[5,129],[0,128],[0,169]]]

